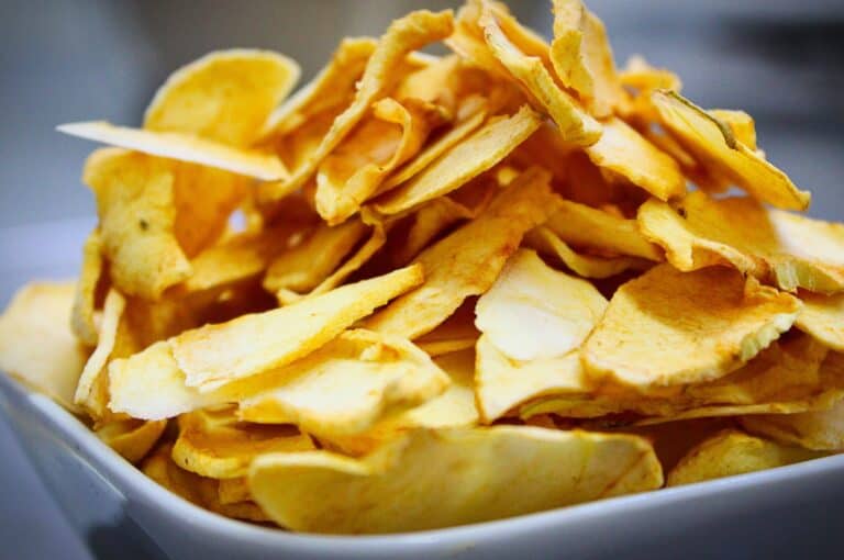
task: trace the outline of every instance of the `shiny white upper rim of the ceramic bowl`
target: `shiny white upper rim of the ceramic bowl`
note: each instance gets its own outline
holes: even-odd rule
[[[122,494],[142,494],[149,503],[166,508],[170,517],[190,519],[203,530],[224,538],[242,541],[259,540],[267,546],[296,547],[302,552],[335,552],[343,547],[349,552],[364,553],[366,550],[385,546],[395,550],[407,547],[432,546],[465,547],[476,541],[508,540],[519,533],[543,533],[568,523],[584,523],[607,519],[611,514],[624,512],[635,515],[637,512],[662,508],[678,502],[688,502],[713,494],[728,494],[735,490],[788,483],[796,478],[812,477],[831,470],[841,470],[844,474],[844,453],[777,467],[774,469],[736,474],[723,479],[696,482],[682,486],[663,488],[656,491],[628,494],[598,500],[584,504],[537,512],[532,514],[496,519],[476,524],[426,529],[413,533],[378,535],[326,535],[293,533],[281,528],[263,527],[246,522],[232,519],[195,505],[171,493],[149,479],[132,463],[102,443],[77,416],[73,415],[48,396],[33,392],[10,376],[0,372],[0,391],[38,414],[42,419],[64,440],[97,468],[99,474],[113,484]],[[124,485],[134,492],[126,492]],[[352,549],[356,550],[349,550]]]

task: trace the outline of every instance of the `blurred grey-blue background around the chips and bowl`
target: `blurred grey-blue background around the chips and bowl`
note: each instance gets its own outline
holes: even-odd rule
[[[377,35],[410,9],[457,4],[0,0],[0,304],[29,277],[71,276],[93,223],[92,198],[78,179],[93,145],[58,135],[56,124],[107,119],[137,125],[170,71],[215,48],[280,51],[300,61],[307,80],[341,36]],[[620,65],[642,54],[678,71],[699,104],[748,111],[768,158],[813,191],[810,213],[844,219],[844,1],[588,4],[607,23]],[[549,33],[548,1],[510,5],[523,22]],[[844,526],[841,503],[818,506]],[[91,558],[2,422],[0,558]]]

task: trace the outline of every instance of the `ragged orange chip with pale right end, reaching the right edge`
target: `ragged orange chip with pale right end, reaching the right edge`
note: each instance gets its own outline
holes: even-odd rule
[[[674,209],[651,200],[642,233],[680,270],[731,265],[782,290],[844,290],[844,225],[768,210],[749,197],[690,193]]]

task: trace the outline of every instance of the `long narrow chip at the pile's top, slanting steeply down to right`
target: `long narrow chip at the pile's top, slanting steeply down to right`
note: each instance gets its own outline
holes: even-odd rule
[[[519,83],[536,99],[559,127],[563,139],[574,145],[589,146],[601,136],[601,125],[577,104],[571,96],[560,89],[542,58],[519,49],[506,35],[495,14],[485,5],[479,20],[484,38],[496,58]]]

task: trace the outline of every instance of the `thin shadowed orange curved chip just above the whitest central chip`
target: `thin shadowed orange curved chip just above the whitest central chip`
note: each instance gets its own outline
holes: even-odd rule
[[[636,257],[593,257],[581,255],[559,238],[551,228],[540,226],[524,236],[524,245],[542,255],[556,257],[573,272],[584,278],[609,278],[625,270],[646,270],[651,261]]]

